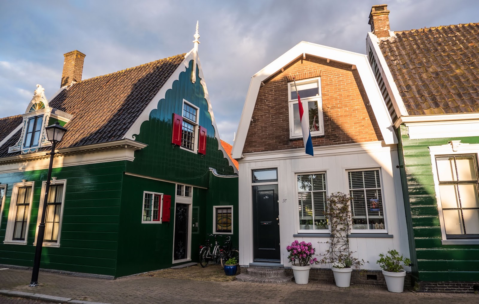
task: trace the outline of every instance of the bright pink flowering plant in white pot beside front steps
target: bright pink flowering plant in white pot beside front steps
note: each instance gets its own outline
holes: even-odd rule
[[[286,250],[289,252],[288,259],[295,276],[295,282],[297,284],[308,284],[311,265],[319,263],[317,258],[313,258],[315,249],[311,243],[295,240],[291,243],[291,246],[286,247]]]

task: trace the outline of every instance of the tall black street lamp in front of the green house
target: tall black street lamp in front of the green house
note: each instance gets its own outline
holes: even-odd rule
[[[46,177],[45,196],[43,199],[42,220],[38,225],[38,236],[36,238],[35,259],[33,261],[32,281],[30,287],[38,286],[38,271],[40,270],[40,260],[42,258],[43,237],[45,236],[45,215],[46,204],[48,201],[48,191],[50,190],[50,179],[52,178],[53,157],[55,156],[55,146],[59,143],[67,129],[62,127],[58,122],[45,128],[46,138],[52,143],[50,152],[50,164],[48,165],[48,174]]]

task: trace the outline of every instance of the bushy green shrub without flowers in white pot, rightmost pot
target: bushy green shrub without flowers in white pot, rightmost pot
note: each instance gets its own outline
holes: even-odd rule
[[[376,261],[382,268],[388,291],[392,293],[402,293],[404,290],[404,277],[406,270],[404,266],[409,266],[411,260],[399,256],[399,252],[395,249],[389,250],[386,255],[380,254]]]

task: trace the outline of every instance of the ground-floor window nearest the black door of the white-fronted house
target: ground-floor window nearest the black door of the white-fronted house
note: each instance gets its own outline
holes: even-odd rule
[[[326,174],[297,176],[299,229],[329,229],[324,215],[326,208]]]

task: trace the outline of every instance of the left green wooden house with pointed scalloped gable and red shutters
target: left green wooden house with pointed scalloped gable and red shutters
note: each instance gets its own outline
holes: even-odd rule
[[[40,267],[109,277],[198,261],[211,233],[238,244],[238,170],[220,144],[197,55],[81,80],[65,54],[61,89],[37,85],[0,119],[0,264],[31,267],[50,143],[57,145]],[[42,203],[40,203],[42,202]]]

